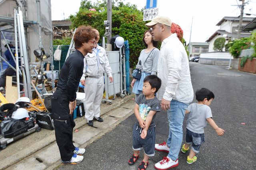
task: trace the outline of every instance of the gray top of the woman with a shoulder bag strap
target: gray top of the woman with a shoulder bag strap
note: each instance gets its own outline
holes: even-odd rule
[[[155,48],[153,49],[152,53],[150,53],[151,51],[149,51],[148,53],[145,53],[145,49],[143,49],[142,51],[140,51],[140,57],[138,59],[138,64],[141,61],[141,65],[143,65],[142,70],[146,73],[150,73],[150,74],[154,74],[156,75],[157,72],[157,61],[158,61],[158,56],[159,56],[159,49]],[[150,56],[148,57],[148,55],[150,54]],[[146,60],[146,58],[148,57],[148,59]],[[145,63],[146,61],[146,63]]]

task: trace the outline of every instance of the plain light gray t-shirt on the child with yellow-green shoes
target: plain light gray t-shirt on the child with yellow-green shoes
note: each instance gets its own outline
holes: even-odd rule
[[[187,109],[190,113],[186,122],[186,128],[194,133],[204,133],[206,119],[212,117],[211,108],[207,105],[192,103]]]

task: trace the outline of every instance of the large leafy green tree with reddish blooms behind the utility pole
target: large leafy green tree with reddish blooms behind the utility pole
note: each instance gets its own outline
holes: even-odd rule
[[[100,36],[105,33],[104,20],[107,20],[106,0],[103,2],[90,2],[82,0],[79,11],[76,15],[71,15],[71,28],[77,28],[81,25],[90,25],[96,28]],[[96,11],[89,10],[90,8]],[[145,48],[142,43],[143,33],[148,29],[143,21],[143,11],[138,10],[136,5],[130,3],[124,4],[121,0],[114,0],[112,3],[112,36],[119,35],[124,40],[129,41],[130,63],[135,67],[140,56],[140,51]],[[177,24],[172,24],[172,33],[177,33],[182,41],[183,31]],[[160,43],[159,43],[160,44]],[[160,46],[159,46],[160,47]]]

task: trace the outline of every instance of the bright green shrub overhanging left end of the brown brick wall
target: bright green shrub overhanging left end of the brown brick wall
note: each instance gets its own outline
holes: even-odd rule
[[[233,57],[238,57],[242,49],[250,48],[250,38],[241,38],[238,40],[233,40],[230,43],[231,43],[231,46],[229,48],[229,53]]]

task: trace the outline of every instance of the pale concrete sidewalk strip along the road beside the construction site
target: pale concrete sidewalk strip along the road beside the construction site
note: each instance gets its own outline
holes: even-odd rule
[[[132,115],[133,97],[134,95],[116,98],[112,100],[112,105],[102,104],[101,117],[104,122],[94,121],[94,127],[86,125],[84,117],[75,119],[74,130],[78,129],[78,132],[73,133],[74,145],[85,148]],[[61,164],[54,130],[41,128],[40,132],[34,132],[7,145],[6,149],[0,150],[0,160],[0,169],[54,169]]]

